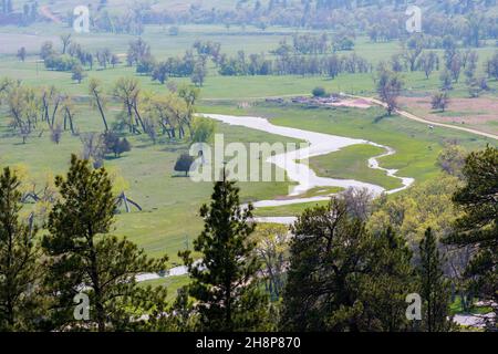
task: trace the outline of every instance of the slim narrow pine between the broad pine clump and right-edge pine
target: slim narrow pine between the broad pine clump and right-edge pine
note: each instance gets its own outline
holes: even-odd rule
[[[419,244],[421,264],[418,277],[423,299],[423,329],[427,332],[446,332],[450,329],[449,282],[443,272],[443,258],[437,249],[436,237],[429,228]]]

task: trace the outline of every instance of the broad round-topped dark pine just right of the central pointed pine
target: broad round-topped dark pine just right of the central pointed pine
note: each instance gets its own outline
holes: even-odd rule
[[[290,268],[283,293],[283,331],[360,331],[360,259],[364,223],[347,215],[346,202],[308,209],[292,227]]]

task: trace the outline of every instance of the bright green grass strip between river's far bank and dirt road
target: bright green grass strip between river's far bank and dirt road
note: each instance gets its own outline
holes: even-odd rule
[[[381,166],[400,169],[398,176],[413,177],[417,181],[438,175],[437,156],[447,142],[456,140],[468,149],[497,144],[490,138],[448,128],[430,131],[425,124],[401,116],[386,117],[380,107],[309,108],[297,104],[278,106],[260,103],[245,110],[234,108],[229,104],[203,106],[201,110],[234,115],[259,115],[268,117],[277,125],[361,138],[391,146],[396,154],[381,158]],[[392,179],[387,176],[382,178],[387,183]]]

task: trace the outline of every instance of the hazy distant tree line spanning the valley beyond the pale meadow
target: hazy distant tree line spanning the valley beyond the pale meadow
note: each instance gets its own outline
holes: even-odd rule
[[[310,39],[311,37],[311,39]],[[323,39],[324,38],[324,39]],[[315,39],[315,40],[313,40]],[[73,80],[81,82],[85,76],[83,66],[93,66],[94,56],[82,50],[81,45],[71,42],[71,35],[61,38],[63,43],[62,54],[58,54],[51,42],[42,45],[41,58],[44,59],[49,69],[72,71]],[[135,65],[136,72],[149,75],[153,81],[164,84],[169,77],[190,77],[196,86],[203,86],[208,74],[208,60],[212,60],[221,75],[328,75],[335,77],[340,73],[365,73],[372,71],[372,64],[355,53],[349,55],[322,55],[325,50],[310,50],[313,43],[328,43],[326,34],[313,37],[311,34],[295,34],[293,46],[286,41],[272,51],[277,56],[274,60],[267,59],[263,53],[247,55],[239,51],[236,56],[228,56],[220,52],[220,43],[196,41],[193,49],[186,51],[183,58],[168,58],[157,61],[151,53],[151,46],[142,38],[129,43],[126,62],[129,66]],[[307,49],[305,43],[311,45]],[[323,44],[322,43],[322,44]],[[318,45],[318,44],[317,44]],[[471,97],[478,96],[483,91],[488,91],[488,79],[497,79],[498,54],[484,63],[485,76],[477,76],[478,54],[474,50],[461,51],[452,37],[443,39],[443,59],[429,50],[426,35],[413,35],[404,43],[404,50],[394,54],[384,66],[390,66],[393,72],[422,71],[427,79],[435,71],[440,72],[442,90],[452,90],[453,83],[458,82],[461,73],[466,76],[466,85]],[[326,45],[325,45],[326,48]],[[68,54],[65,54],[68,52]],[[311,54],[310,54],[311,53]],[[319,55],[320,54],[320,55]],[[25,58],[25,50],[20,50],[19,58]],[[98,50],[95,54],[100,65],[113,67],[121,63],[120,58],[108,49]]]

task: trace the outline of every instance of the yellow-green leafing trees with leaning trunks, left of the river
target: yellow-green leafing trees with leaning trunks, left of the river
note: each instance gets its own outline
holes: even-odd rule
[[[197,134],[193,125],[193,116],[199,91],[187,85],[174,87],[174,90],[167,94],[145,92],[138,81],[133,77],[117,80],[108,92],[96,79],[91,79],[89,83],[90,103],[102,118],[103,134],[113,132],[113,134],[123,134],[127,131],[129,134],[148,136],[154,143],[159,136],[168,139],[184,139],[194,138]],[[113,122],[108,119],[110,103],[122,104],[122,111],[117,114],[117,119]],[[58,144],[64,131],[71,132],[72,135],[80,135],[75,121],[77,115],[75,103],[72,97],[61,93],[54,86],[30,87],[18,81],[2,79],[0,104],[7,107],[12,118],[10,127],[22,137],[23,143],[27,143],[28,138],[37,132],[41,136],[45,129],[51,133],[52,140]],[[113,146],[107,150],[116,156],[129,150],[127,142],[111,145]]]

